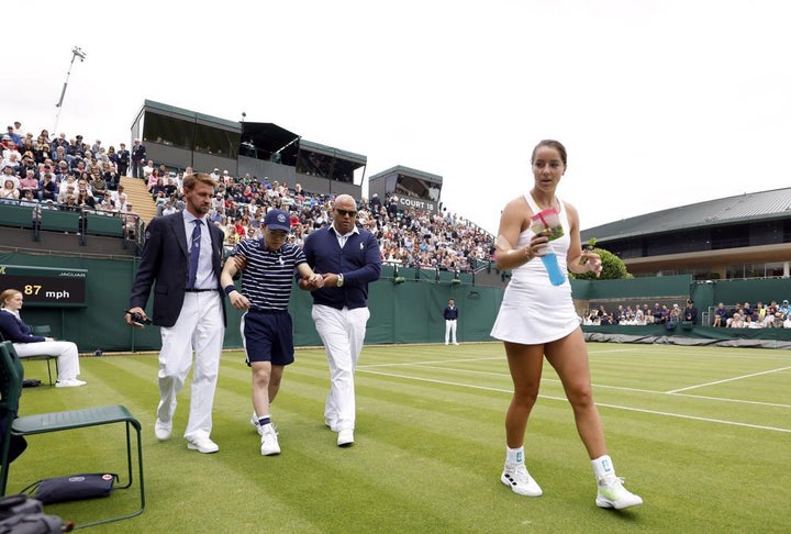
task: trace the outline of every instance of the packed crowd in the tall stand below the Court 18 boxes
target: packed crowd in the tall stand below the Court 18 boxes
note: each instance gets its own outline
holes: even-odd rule
[[[182,179],[191,168],[174,173],[151,159],[135,162],[135,142],[130,152],[123,143],[107,149],[81,135],[51,137],[46,130],[23,134],[21,124],[8,126],[2,136],[3,188],[0,202],[30,202],[62,210],[101,210],[121,216],[135,215],[120,183],[130,170],[146,181],[157,215],[183,209]],[[145,162],[145,165],[143,163]],[[140,163],[140,165],[137,165]],[[259,238],[260,224],[269,209],[291,214],[292,243],[302,244],[310,232],[332,222],[333,194],[308,192],[299,183],[233,177],[227,170],[212,171],[218,183],[211,219],[225,234],[231,249],[245,238]],[[488,260],[493,236],[465,218],[445,212],[399,211],[396,196],[374,194],[357,202],[357,222],[378,238],[386,264],[412,268],[469,271],[478,260]],[[136,215],[135,215],[136,216]]]

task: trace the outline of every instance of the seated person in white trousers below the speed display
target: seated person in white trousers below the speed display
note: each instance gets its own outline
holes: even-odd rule
[[[0,293],[0,334],[5,341],[13,343],[14,351],[20,358],[27,356],[57,356],[58,379],[57,388],[75,388],[85,386],[78,380],[79,354],[77,345],[71,342],[58,342],[53,337],[31,335],[31,327],[20,318],[22,308],[22,292],[7,289]]]

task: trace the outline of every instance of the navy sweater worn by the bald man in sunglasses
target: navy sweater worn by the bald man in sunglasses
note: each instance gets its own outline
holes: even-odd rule
[[[314,272],[344,276],[341,288],[312,291],[314,304],[324,304],[336,310],[344,307],[349,310],[366,307],[368,283],[377,281],[381,275],[381,253],[374,234],[359,229],[358,234],[352,234],[346,240],[342,249],[335,231],[324,227],[308,236],[304,254]]]

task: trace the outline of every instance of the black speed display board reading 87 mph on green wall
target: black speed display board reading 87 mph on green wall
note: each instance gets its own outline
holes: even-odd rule
[[[87,276],[87,269],[0,265],[0,291],[21,291],[27,307],[83,307]]]

